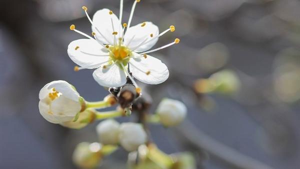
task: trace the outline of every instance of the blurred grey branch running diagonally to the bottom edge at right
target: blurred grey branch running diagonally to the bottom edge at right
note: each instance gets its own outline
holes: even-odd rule
[[[272,169],[272,167],[259,162],[249,156],[243,155],[240,152],[214,140],[197,129],[190,121],[186,120],[180,127],[176,127],[177,133],[181,138],[190,144],[204,149],[210,155],[223,160],[224,162],[243,169]]]

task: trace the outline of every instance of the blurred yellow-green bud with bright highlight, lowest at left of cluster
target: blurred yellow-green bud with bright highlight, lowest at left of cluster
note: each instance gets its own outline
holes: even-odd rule
[[[73,162],[80,168],[94,168],[102,159],[101,148],[97,142],[81,142],[74,149]]]

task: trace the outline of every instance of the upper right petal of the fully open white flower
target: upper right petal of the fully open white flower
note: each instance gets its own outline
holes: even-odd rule
[[[124,34],[124,44],[127,45],[128,42],[131,40],[129,43],[128,47],[130,49],[134,49],[136,46],[138,46],[143,40],[147,38],[146,41],[155,38],[159,34],[159,29],[158,27],[153,24],[152,22],[145,22],[144,26],[141,26],[142,23],[137,24],[135,26],[129,27],[128,30],[126,30],[126,33]],[[150,34],[153,34],[151,37]],[[136,48],[134,51],[135,52],[142,52],[150,49],[158,40],[158,37],[155,39],[151,40],[150,42],[147,42],[138,48]]]

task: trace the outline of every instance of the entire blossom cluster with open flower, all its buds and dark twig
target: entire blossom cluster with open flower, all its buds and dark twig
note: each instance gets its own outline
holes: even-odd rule
[[[170,25],[159,33],[158,27],[149,21],[130,25],[139,1],[134,0],[128,22],[123,24],[123,0],[120,0],[119,17],[103,8],[91,19],[87,7],[82,6],[91,23],[93,37],[77,30],[74,24],[70,25],[70,30],[86,37],[68,45],[67,54],[78,65],[74,70],[95,69],[92,76],[108,88],[107,96],[100,101],[86,101],[73,85],[63,80],[52,81],[39,92],[39,112],[51,123],[80,129],[93,121],[103,120],[96,126],[98,141],[81,142],[74,149],[73,161],[81,168],[96,167],[104,156],[118,147],[129,152],[128,164],[134,169],[154,169],[151,167],[154,165],[166,169],[194,168],[194,165],[185,165],[186,160],[181,155],[164,154],[149,138],[148,123],[160,123],[165,127],[177,125],[186,116],[187,108],[178,100],[164,98],[155,113],[149,113],[151,98],[141,93],[135,79],[147,84],[164,82],[169,76],[167,66],[148,53],[177,44],[179,38],[151,49],[158,37],[175,31],[175,26]],[[117,105],[113,110],[98,110],[113,105]],[[113,119],[129,116],[131,112],[137,116],[137,121],[119,123]],[[137,154],[134,165],[130,164],[132,154]]]

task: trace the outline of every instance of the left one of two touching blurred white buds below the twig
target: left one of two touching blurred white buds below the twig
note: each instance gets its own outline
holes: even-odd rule
[[[106,119],[101,121],[96,126],[96,131],[99,137],[99,140],[102,144],[116,144],[119,142],[120,124],[114,119]]]

